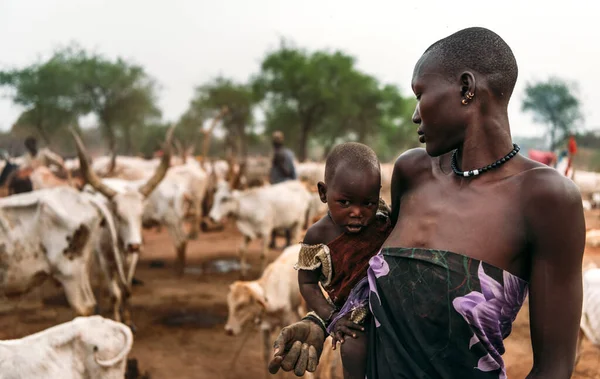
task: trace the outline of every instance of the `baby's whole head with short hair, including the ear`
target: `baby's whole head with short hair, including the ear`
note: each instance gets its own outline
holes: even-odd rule
[[[370,147],[347,142],[331,150],[325,163],[325,182],[317,184],[333,222],[346,233],[360,233],[377,213],[381,169]]]

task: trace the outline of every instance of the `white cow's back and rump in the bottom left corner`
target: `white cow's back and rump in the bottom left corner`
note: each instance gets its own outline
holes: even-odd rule
[[[0,379],[123,379],[132,345],[127,326],[100,316],[77,317],[0,341]]]

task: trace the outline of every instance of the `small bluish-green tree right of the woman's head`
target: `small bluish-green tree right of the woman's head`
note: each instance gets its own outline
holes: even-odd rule
[[[550,150],[573,131],[575,122],[583,119],[579,99],[571,87],[558,78],[527,84],[521,108],[532,112],[536,122],[546,124]]]

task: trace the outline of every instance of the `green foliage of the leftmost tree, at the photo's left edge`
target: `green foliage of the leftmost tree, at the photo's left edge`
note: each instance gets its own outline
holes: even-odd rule
[[[160,117],[154,81],[141,66],[89,55],[76,45],[57,50],[45,62],[0,73],[0,85],[14,88],[25,107],[15,128],[37,132],[46,143],[80,116],[94,113],[111,150],[117,138],[134,149],[134,135]]]

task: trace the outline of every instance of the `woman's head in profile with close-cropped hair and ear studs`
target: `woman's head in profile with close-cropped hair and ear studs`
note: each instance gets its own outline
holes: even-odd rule
[[[488,29],[463,29],[431,45],[412,78],[413,122],[429,155],[456,149],[486,117],[506,115],[517,75],[510,47]]]

